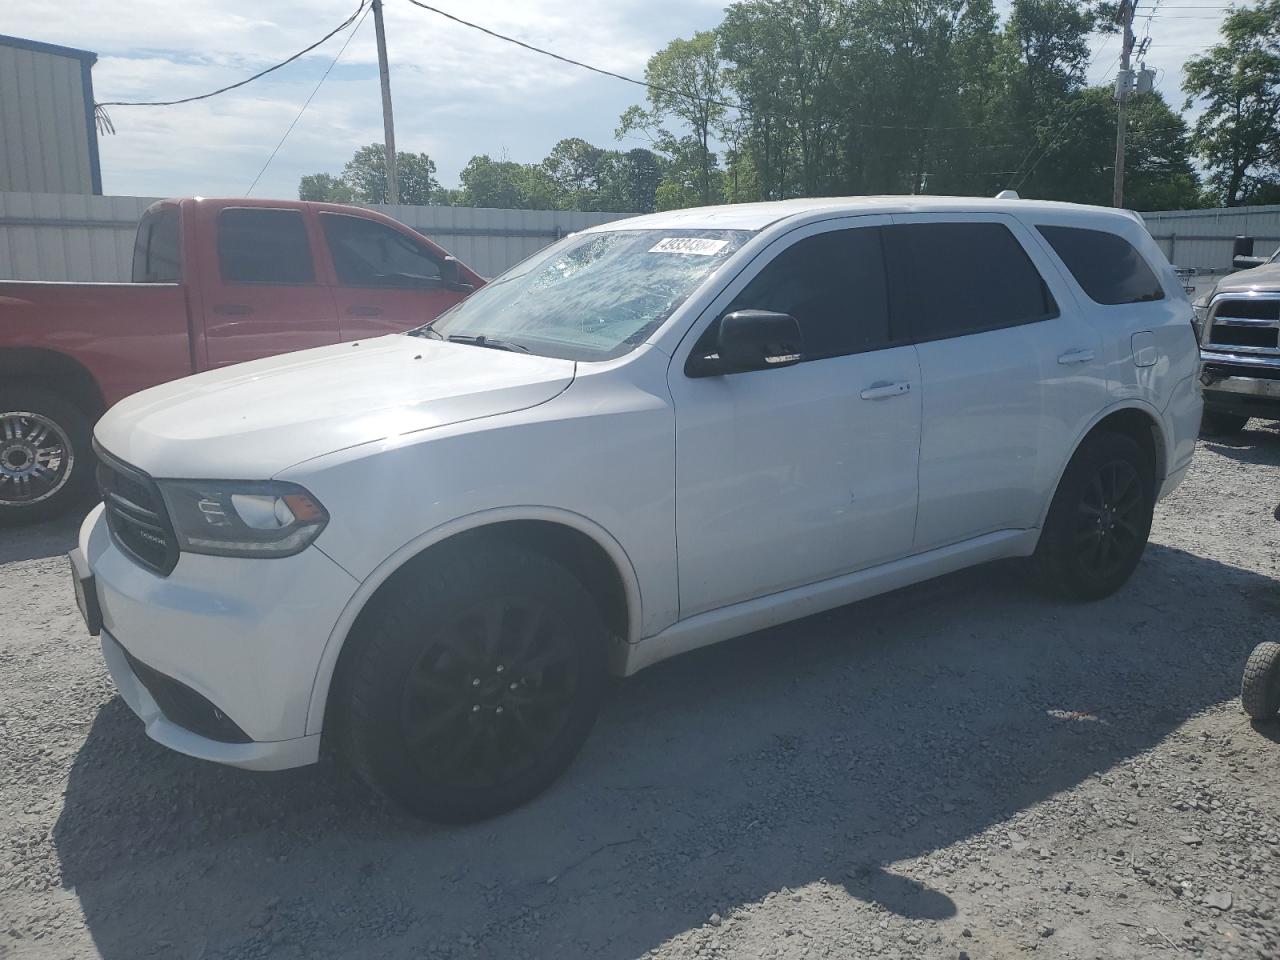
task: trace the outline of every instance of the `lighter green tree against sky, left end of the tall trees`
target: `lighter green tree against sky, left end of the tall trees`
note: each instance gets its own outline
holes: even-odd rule
[[[681,193],[692,186],[703,204],[713,202],[718,198],[714,189],[718,184],[710,143],[724,118],[724,70],[716,32],[703,31],[691,40],[671,41],[649,58],[644,78],[650,84],[649,108],[627,108],[617,136],[644,132],[677,172],[672,184]],[[666,125],[671,120],[678,120],[687,133],[671,131]]]

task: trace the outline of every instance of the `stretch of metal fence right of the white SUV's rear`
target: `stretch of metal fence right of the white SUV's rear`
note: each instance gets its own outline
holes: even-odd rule
[[[1257,256],[1270,256],[1280,247],[1280,206],[1160,210],[1142,219],[1174,266],[1229,270],[1235,237],[1253,237]]]

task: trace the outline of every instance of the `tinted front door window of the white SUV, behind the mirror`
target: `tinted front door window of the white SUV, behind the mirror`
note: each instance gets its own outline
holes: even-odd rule
[[[805,360],[887,346],[888,296],[879,228],[832,230],[792,243],[724,312],[735,310],[791,314],[804,334]]]

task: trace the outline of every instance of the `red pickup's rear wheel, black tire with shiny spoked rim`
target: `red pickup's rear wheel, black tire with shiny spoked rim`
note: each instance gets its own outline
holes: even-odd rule
[[[84,499],[91,436],[88,417],[52,390],[0,387],[0,526],[49,520]]]

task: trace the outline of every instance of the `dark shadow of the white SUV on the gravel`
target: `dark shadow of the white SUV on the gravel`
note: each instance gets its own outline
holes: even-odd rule
[[[1152,545],[1101,603],[993,564],[754,634],[620,685],[563,780],[467,828],[404,818],[330,760],[172,754],[116,699],[52,838],[108,960],[632,957],[819,879],[849,909],[942,920],[952,899],[895,864],[1234,696],[1274,586]]]

